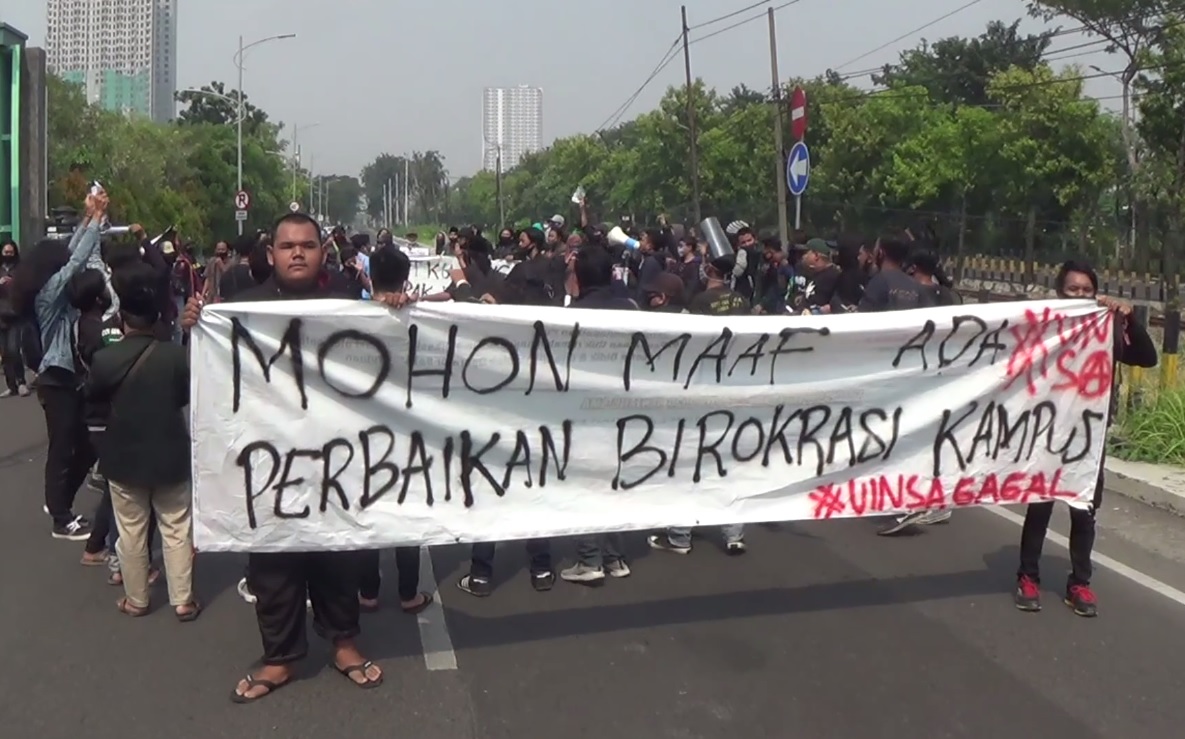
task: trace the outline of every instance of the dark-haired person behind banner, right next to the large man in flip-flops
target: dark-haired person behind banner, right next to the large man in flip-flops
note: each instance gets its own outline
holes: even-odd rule
[[[380,246],[371,255],[371,284],[378,296],[403,293],[411,274],[411,259],[395,245]],[[382,552],[360,552],[358,603],[363,611],[379,608],[378,592],[383,584]],[[433,604],[433,596],[419,592],[419,547],[395,547],[395,565],[399,573],[399,609],[404,613],[419,613]]]

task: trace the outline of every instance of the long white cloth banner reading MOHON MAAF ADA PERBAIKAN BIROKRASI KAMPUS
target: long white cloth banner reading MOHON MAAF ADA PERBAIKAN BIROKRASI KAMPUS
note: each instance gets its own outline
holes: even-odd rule
[[[192,358],[198,547],[351,550],[1084,507],[1112,321],[222,303]]]

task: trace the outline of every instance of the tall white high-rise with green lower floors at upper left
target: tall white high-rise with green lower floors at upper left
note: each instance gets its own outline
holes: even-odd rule
[[[171,121],[177,113],[178,0],[47,0],[50,71],[87,99]]]

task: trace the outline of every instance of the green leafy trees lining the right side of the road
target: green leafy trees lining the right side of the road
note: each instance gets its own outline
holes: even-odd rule
[[[1069,12],[1075,2],[1035,5]],[[1152,0],[1135,6],[1142,18],[1159,18],[1162,28],[1154,32],[1129,18],[1132,11],[1122,12],[1132,4],[1076,5],[1082,25],[1090,27],[1085,11],[1095,13],[1094,23],[1109,28],[1116,43],[1126,38],[1123,28],[1148,32],[1144,71],[1135,81],[1140,147],[1158,162],[1153,169],[1161,192],[1177,182],[1180,161],[1181,189],[1173,191],[1180,195],[1185,72],[1168,70],[1178,58],[1172,54],[1185,62],[1185,24],[1167,33],[1174,17]],[[922,43],[876,75],[882,86],[872,92],[834,72],[789,81],[782,104],[794,85],[802,85],[811,105],[805,225],[871,232],[929,220],[941,221],[941,231],[960,243],[966,236],[973,248],[994,253],[1050,256],[1089,244],[1088,255],[1098,259],[1130,255],[1123,205],[1116,197],[1132,171],[1121,116],[1084,94],[1087,70],[1053,69],[1045,60],[1051,38],[1063,33],[1024,34],[1018,27],[997,21],[975,38]],[[775,165],[771,96],[744,86],[722,94],[697,82],[693,99],[703,212],[724,221],[775,225],[775,178],[784,172]],[[559,139],[525,158],[504,176],[508,219],[523,225],[569,213],[571,192],[581,185],[597,220],[628,216],[653,221],[665,213],[688,221],[693,204],[686,118],[686,91],[672,88],[654,110],[633,121]],[[494,178],[479,173],[456,182],[453,203],[459,220],[494,225]],[[1155,233],[1165,236],[1162,229]]]

